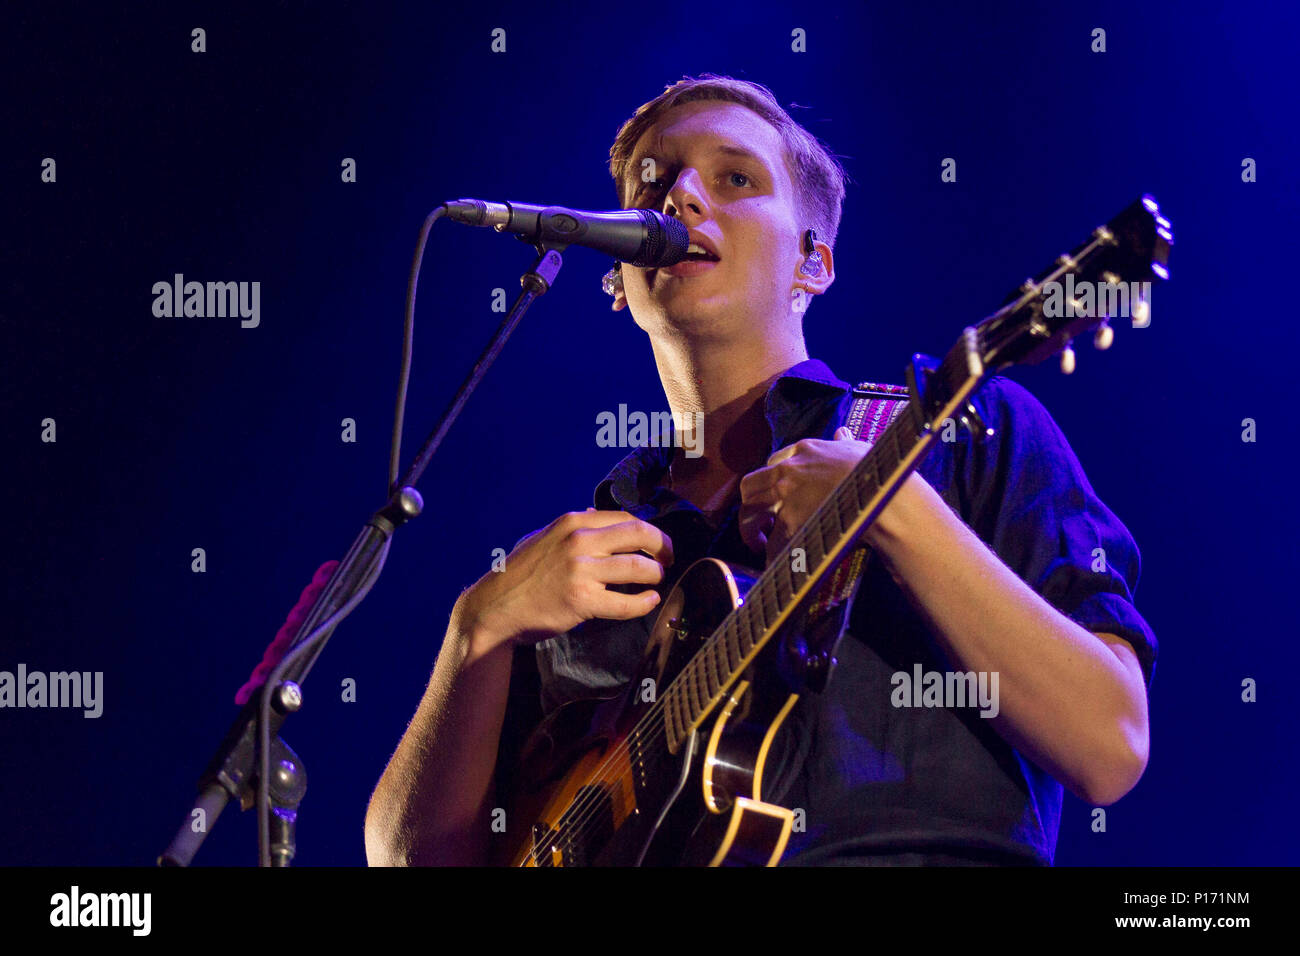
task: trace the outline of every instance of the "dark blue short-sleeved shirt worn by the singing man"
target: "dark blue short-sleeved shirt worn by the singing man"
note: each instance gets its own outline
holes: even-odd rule
[[[849,384],[822,362],[788,369],[764,398],[771,450],[831,438],[852,401]],[[993,377],[975,405],[993,437],[980,445],[959,431],[957,441],[936,442],[918,468],[922,477],[1048,604],[1088,631],[1132,644],[1149,687],[1157,644],[1134,607],[1140,558],[1128,531],[1028,392]],[[738,505],[711,524],[660,486],[672,453],[633,450],[594,499],[670,536],[676,559],[662,593],[705,555],[762,567],[763,555],[741,541]],[[630,680],[655,617],[589,620],[516,652],[502,758],[512,758],[541,711]],[[803,810],[783,865],[1052,864],[1061,784],[1006,743],[978,706],[894,705],[896,674],[914,675],[918,665],[923,674],[965,669],[946,658],[879,559],[866,564],[837,658],[826,692],[801,696],[768,770],[764,799]]]

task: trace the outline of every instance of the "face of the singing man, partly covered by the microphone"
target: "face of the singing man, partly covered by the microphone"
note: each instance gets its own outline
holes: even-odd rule
[[[644,176],[646,159],[654,165]],[[667,269],[624,264],[637,325],[725,341],[798,321],[790,290],[802,261],[801,224],[772,126],[736,103],[686,103],[641,135],[632,160],[625,207],[671,212],[718,255]]]

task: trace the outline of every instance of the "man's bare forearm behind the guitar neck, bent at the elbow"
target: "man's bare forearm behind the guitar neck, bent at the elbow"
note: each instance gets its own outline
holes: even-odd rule
[[[1148,745],[1140,671],[1044,601],[919,476],[872,545],[949,658],[998,675],[992,719],[1004,739],[1089,803],[1132,787]]]

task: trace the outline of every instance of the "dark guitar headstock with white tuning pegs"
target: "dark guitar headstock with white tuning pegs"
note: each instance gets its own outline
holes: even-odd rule
[[[941,363],[914,359],[909,381],[915,382],[914,398],[920,392],[926,420],[953,395],[1009,365],[1060,352],[1061,371],[1072,372],[1072,339],[1083,332],[1095,329],[1093,343],[1109,349],[1114,319],[1128,317],[1134,328],[1149,325],[1150,287],[1169,278],[1173,245],[1173,226],[1149,195],[1097,226],[1074,251],[1026,280],[1002,308],[967,328]]]

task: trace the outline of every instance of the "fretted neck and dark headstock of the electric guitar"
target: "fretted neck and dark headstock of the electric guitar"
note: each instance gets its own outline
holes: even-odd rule
[[[966,420],[970,395],[992,371],[1041,362],[1061,354],[1061,368],[1074,368],[1074,336],[1093,329],[1098,349],[1108,349],[1113,330],[1106,320],[1124,311],[1123,284],[1139,285],[1140,308],[1134,325],[1149,324],[1145,289],[1169,278],[1173,228],[1156,200],[1144,195],[1104,226],[1097,226],[1069,255],[1057,259],[1037,280],[1027,280],[992,316],[963,330],[944,356],[927,388],[911,382],[913,401],[880,440],[831,493],[789,546],[772,561],[723,624],[663,692],[670,749],[676,753],[723,693],[763,646],[794,615],[809,594],[844,559],[862,533],[889,503],[936,438],[936,423]],[[1096,293],[1070,299],[1062,313],[1061,280]],[[1145,284],[1145,285],[1141,285]],[[1066,295],[1072,295],[1067,291]],[[1102,298],[1105,307],[1101,306]],[[937,388],[935,386],[937,384]],[[978,416],[972,418],[978,421]]]

